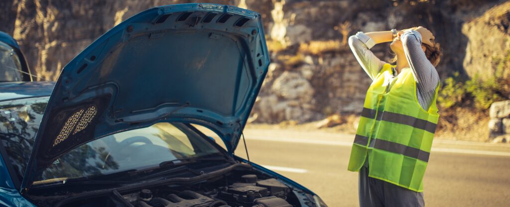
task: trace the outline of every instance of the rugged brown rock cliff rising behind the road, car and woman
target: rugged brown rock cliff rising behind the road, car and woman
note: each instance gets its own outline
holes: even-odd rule
[[[469,75],[486,71],[490,61],[480,61],[480,55],[503,54],[510,44],[508,3],[501,0],[4,0],[0,30],[19,41],[38,80],[56,80],[74,55],[122,20],[154,6],[192,2],[235,5],[262,14],[273,64],[253,108],[254,122],[308,122],[361,112],[371,80],[342,34],[423,25],[442,44],[444,56],[437,69],[443,78],[465,69]],[[303,51],[303,44],[318,46]],[[381,60],[391,56],[388,44],[372,51]]]

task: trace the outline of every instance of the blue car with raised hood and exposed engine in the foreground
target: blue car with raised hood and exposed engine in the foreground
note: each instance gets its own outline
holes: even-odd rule
[[[260,14],[183,4],[116,25],[56,83],[0,83],[0,205],[326,206],[234,155],[268,65]]]

